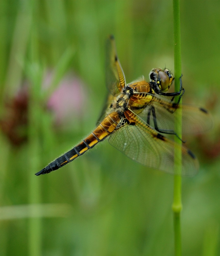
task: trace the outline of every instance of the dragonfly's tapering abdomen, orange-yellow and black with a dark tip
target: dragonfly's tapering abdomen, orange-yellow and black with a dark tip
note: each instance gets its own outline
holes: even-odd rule
[[[120,121],[120,116],[117,112],[110,113],[102,122],[101,124],[88,136],[86,137],[81,143],[77,146],[72,148],[70,151],[65,153],[64,155],[58,157],[52,163],[48,164],[44,167],[40,172],[35,173],[35,175],[41,175],[50,173],[54,170],[63,167],[64,165],[68,164],[69,162],[73,161],[78,156],[84,154],[90,148],[93,148],[98,142],[103,141],[109,134],[111,134],[117,124]]]

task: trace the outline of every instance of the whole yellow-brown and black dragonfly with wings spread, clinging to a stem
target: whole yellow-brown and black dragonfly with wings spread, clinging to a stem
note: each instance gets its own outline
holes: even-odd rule
[[[175,120],[182,115],[182,133],[199,134],[211,128],[209,112],[198,106],[180,104],[184,93],[180,77],[177,92],[168,92],[174,77],[168,69],[155,68],[149,75],[126,83],[118,59],[114,36],[106,43],[107,100],[95,130],[64,155],[35,175],[50,173],[63,167],[108,137],[108,142],[136,162],[170,174],[193,176],[199,169],[197,157],[170,136]],[[176,102],[176,98],[179,100]],[[165,134],[167,134],[165,136]],[[174,151],[180,152],[179,156]],[[174,159],[175,158],[175,159]],[[174,160],[181,161],[177,172]]]

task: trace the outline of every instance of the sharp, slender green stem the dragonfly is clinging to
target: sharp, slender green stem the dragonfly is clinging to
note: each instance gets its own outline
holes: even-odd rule
[[[173,0],[173,15],[174,15],[174,68],[175,68],[175,91],[179,90],[181,76],[181,44],[180,44],[180,4],[179,0]],[[178,99],[177,99],[178,100]],[[181,102],[180,102],[181,103]],[[175,120],[175,131],[180,136],[182,134],[181,125],[182,115],[180,114]],[[176,143],[181,143],[181,141],[175,137]],[[181,173],[181,150],[175,148],[174,152],[174,165],[175,172]],[[178,159],[178,161],[177,161]],[[181,225],[180,225],[180,212],[182,210],[181,202],[181,176],[174,176],[174,199],[173,199],[173,218],[174,218],[174,246],[175,255],[181,255]]]

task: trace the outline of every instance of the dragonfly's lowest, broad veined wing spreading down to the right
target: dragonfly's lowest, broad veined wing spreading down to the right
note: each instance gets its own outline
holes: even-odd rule
[[[128,125],[121,119],[116,131],[109,137],[109,143],[140,164],[175,174],[174,148],[182,152],[182,172],[180,175],[193,176],[199,169],[199,163],[193,153],[163,135],[152,133],[151,129],[140,124]]]

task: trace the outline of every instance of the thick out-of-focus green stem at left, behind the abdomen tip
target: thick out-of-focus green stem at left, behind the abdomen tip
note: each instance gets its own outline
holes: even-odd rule
[[[38,60],[38,42],[35,40],[36,31],[34,23],[30,34],[29,58],[26,73],[30,81],[28,104],[28,141],[29,141],[29,204],[40,204],[40,180],[36,180],[34,173],[40,169],[40,134],[41,134],[41,85],[43,80],[43,68]],[[35,214],[35,215],[34,215]],[[40,207],[31,207],[29,218],[29,255],[41,255],[42,218]]]

